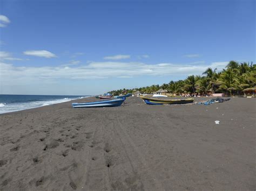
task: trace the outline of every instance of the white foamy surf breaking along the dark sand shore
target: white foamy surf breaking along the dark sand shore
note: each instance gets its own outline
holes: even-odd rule
[[[85,96],[85,97],[90,97],[90,96]],[[82,98],[85,98],[85,97],[82,97]],[[39,108],[46,105],[53,105],[57,103],[68,102],[71,100],[77,100],[79,98],[80,97],[75,97],[75,98],[65,97],[63,99],[47,100],[47,101],[33,101],[33,102],[10,103],[10,104],[0,103],[0,114],[4,114],[7,112],[21,111],[25,109]]]

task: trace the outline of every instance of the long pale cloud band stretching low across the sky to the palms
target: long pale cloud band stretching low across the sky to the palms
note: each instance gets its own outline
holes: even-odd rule
[[[90,62],[87,65],[58,67],[17,67],[10,63],[0,62],[1,81],[6,84],[27,84],[31,81],[55,82],[61,79],[105,79],[108,77],[138,76],[186,76],[200,75],[208,67],[225,68],[228,62],[213,62],[209,65],[181,65],[174,63],[147,64],[143,62]],[[11,75],[10,75],[11,74]]]

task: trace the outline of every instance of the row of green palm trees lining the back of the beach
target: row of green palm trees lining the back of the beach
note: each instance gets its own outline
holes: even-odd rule
[[[152,94],[158,89],[166,89],[175,95],[184,94],[214,94],[225,93],[226,95],[245,95],[247,90],[254,93],[256,86],[256,65],[251,63],[238,63],[230,61],[222,72],[217,73],[217,68],[207,68],[203,76],[188,76],[185,80],[170,81],[161,86],[152,85],[134,89],[120,89],[110,91],[113,95],[119,95],[126,90],[127,93],[140,91],[140,93]]]

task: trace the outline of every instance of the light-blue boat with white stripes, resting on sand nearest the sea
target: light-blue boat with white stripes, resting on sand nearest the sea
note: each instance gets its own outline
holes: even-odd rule
[[[86,102],[86,103],[72,103],[73,108],[102,108],[102,107],[117,107],[122,105],[125,101],[125,97],[113,100],[105,100],[98,102]]]

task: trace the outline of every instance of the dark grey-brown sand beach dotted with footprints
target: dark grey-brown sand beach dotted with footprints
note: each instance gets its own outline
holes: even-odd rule
[[[254,190],[255,101],[0,115],[0,190]]]

